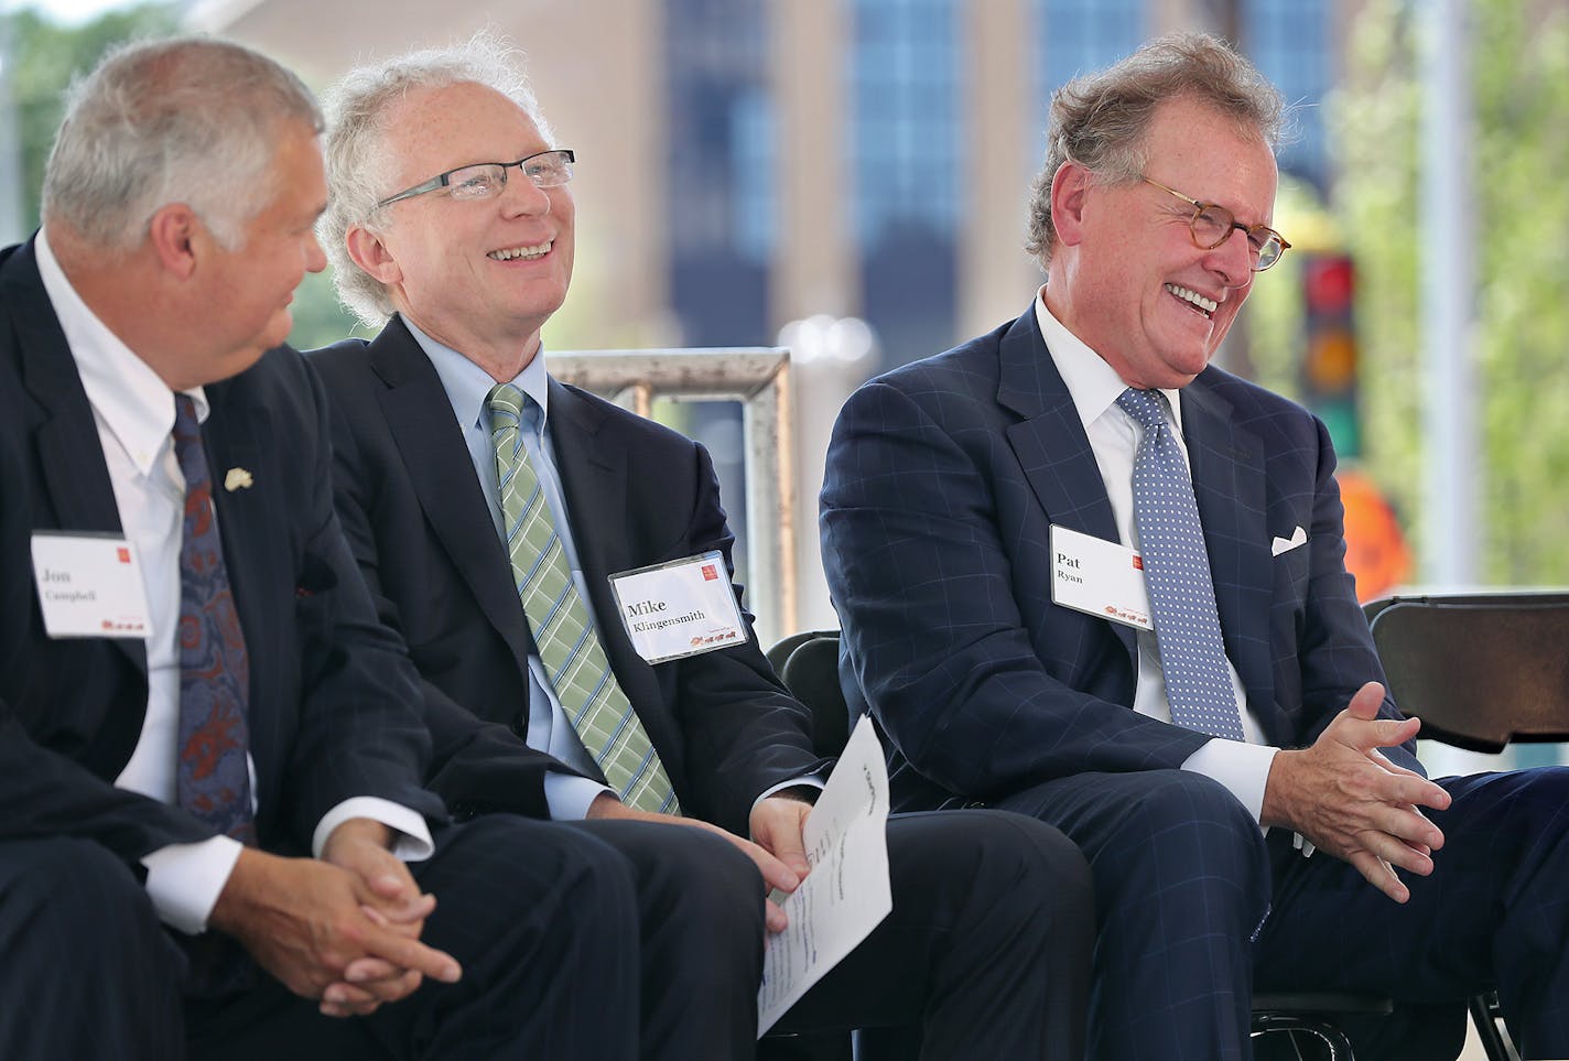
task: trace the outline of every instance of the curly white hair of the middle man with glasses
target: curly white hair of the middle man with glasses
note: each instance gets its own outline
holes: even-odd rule
[[[399,191],[389,184],[386,115],[414,91],[469,83],[515,102],[546,143],[554,143],[522,72],[521,52],[490,31],[455,47],[425,49],[359,66],[326,93],[328,206],[317,223],[317,235],[333,262],[339,301],[370,328],[380,328],[392,315],[392,298],[381,281],[348,257],[347,235],[356,224],[373,228],[377,202]]]

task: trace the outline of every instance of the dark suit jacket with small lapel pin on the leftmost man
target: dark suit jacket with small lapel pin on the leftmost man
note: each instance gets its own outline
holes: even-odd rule
[[[249,731],[267,849],[309,851],[322,815],[380,796],[430,816],[428,736],[413,669],[375,612],[333,515],[325,403],[279,348],[207,388],[202,435],[251,665]],[[52,640],[33,584],[35,530],[119,532],[93,410],[31,243],[0,251],[0,841],[80,837],[137,860],[212,830],[116,789],[147,706],[140,640]]]

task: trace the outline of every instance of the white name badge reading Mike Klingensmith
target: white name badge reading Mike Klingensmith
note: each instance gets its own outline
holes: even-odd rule
[[[725,557],[717,549],[610,576],[621,625],[648,662],[730,648],[747,640]]]

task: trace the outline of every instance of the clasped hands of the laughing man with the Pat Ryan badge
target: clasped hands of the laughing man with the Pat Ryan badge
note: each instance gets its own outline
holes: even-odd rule
[[[1395,870],[1432,873],[1443,833],[1422,807],[1447,810],[1450,794],[1378,750],[1404,744],[1422,727],[1418,719],[1379,719],[1382,703],[1384,687],[1370,681],[1312,747],[1277,753],[1260,821],[1296,830],[1404,902],[1411,890]]]

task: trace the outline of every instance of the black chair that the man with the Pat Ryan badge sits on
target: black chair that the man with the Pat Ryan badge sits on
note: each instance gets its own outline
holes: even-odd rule
[[[791,634],[767,651],[769,662],[791,695],[811,711],[813,746],[819,755],[835,755],[849,739],[850,713],[839,686],[839,631],[816,629]],[[1351,1041],[1335,1026],[1335,1017],[1389,1014],[1382,995],[1349,992],[1271,992],[1254,995],[1255,1034],[1313,1036],[1324,1044],[1316,1055],[1327,1061],[1354,1061]]]

